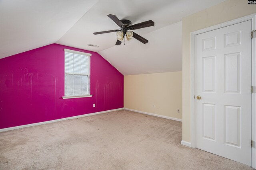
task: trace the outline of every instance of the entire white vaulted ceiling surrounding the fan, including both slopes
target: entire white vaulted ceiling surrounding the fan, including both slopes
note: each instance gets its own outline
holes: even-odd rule
[[[0,58],[58,43],[98,52],[124,75],[180,71],[182,18],[223,1],[0,0]],[[153,20],[134,31],[149,42],[115,46],[116,33],[93,35],[118,29],[108,14],[133,24]]]

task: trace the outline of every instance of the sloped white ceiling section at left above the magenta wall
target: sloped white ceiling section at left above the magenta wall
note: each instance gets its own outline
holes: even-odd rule
[[[96,0],[0,0],[0,58],[56,43]]]

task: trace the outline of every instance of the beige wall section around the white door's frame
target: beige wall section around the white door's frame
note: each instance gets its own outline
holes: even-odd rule
[[[182,140],[190,142],[190,32],[256,13],[247,0],[227,0],[182,19]]]

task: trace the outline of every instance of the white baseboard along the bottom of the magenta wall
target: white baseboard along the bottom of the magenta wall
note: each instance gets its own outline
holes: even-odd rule
[[[4,128],[4,129],[0,129],[0,132],[10,131],[10,130],[14,130],[14,129],[20,129],[20,128],[24,128],[24,127],[42,125],[42,124],[46,124],[46,123],[53,123],[53,122],[63,121],[63,120],[68,120],[68,119],[76,119],[76,118],[79,118],[79,117],[97,115],[97,114],[101,114],[101,113],[107,113],[107,112],[110,112],[110,111],[117,111],[117,110],[122,110],[122,109],[124,109],[124,108],[122,107],[122,108],[119,108],[119,109],[112,109],[112,110],[106,110],[106,111],[99,111],[99,112],[95,112],[95,113],[88,113],[88,114],[84,114],[84,115],[78,115],[78,116],[72,116],[72,117],[65,117],[65,118],[62,118],[62,119],[55,119],[55,120],[50,120],[50,121],[43,121],[43,122],[32,123],[32,124],[28,124],[28,125],[7,127],[7,128]]]

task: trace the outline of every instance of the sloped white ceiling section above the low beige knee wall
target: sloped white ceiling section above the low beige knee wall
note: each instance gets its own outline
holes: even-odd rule
[[[182,70],[182,21],[144,34],[147,44],[132,39],[98,52],[124,75]]]

